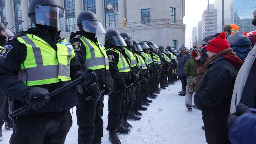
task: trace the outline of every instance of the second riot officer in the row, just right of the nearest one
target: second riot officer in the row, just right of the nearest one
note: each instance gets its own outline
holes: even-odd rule
[[[106,49],[96,38],[96,33],[105,33],[97,16],[91,11],[78,15],[79,31],[71,33],[70,43],[84,70],[90,68],[98,75],[100,95],[94,93],[93,87],[78,87],[76,117],[78,123],[78,144],[100,144],[103,137],[103,96],[112,92],[112,77],[109,72],[109,61]],[[89,100],[86,97],[93,95]]]

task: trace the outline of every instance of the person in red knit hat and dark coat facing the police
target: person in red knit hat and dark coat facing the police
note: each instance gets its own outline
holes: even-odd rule
[[[202,110],[207,143],[229,144],[227,115],[237,69],[243,62],[235,56],[224,32],[208,41],[206,50],[210,64],[196,88],[194,103]]]

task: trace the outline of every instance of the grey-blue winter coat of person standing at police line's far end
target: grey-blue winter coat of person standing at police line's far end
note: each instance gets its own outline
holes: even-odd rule
[[[189,53],[189,50],[184,50],[181,52],[181,54],[177,54],[177,61],[178,61],[178,68],[177,68],[177,76],[187,76],[186,73],[184,73],[184,67],[185,63],[188,60],[188,58],[191,56]]]

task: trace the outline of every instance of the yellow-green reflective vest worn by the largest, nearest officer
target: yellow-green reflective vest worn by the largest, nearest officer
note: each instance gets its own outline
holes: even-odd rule
[[[43,39],[32,34],[16,39],[27,48],[26,60],[20,64],[17,75],[24,84],[36,86],[71,80],[70,61],[75,57],[75,52],[66,39],[56,43],[57,52]]]

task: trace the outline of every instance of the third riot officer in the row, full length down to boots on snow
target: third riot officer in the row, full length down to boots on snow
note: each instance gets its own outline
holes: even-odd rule
[[[109,141],[120,144],[116,133],[128,134],[130,129],[121,126],[119,118],[123,116],[125,102],[127,102],[127,86],[134,82],[129,60],[125,57],[123,46],[127,46],[117,30],[108,30],[105,34],[105,48],[109,58],[109,71],[114,80],[113,91],[108,100]]]

